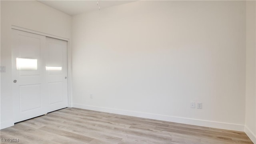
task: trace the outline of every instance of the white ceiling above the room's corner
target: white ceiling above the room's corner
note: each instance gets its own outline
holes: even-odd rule
[[[83,12],[99,10],[97,2],[100,2],[100,9],[103,9],[134,2],[134,0],[38,0],[38,2],[60,10],[70,16],[74,16]]]

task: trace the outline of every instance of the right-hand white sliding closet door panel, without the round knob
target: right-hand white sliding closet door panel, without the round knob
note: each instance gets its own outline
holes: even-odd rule
[[[68,106],[67,41],[46,37],[49,112]]]

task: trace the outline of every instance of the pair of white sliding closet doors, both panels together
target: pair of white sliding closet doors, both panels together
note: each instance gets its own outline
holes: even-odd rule
[[[68,106],[67,42],[12,30],[14,122]]]

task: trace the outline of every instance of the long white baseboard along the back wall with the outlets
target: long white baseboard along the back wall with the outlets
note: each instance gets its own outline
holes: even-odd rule
[[[191,124],[196,126],[206,126],[211,128],[221,128],[226,130],[236,130],[236,131],[244,132],[244,125],[242,124],[231,124],[231,123],[225,123],[225,122],[214,122],[209,120],[198,120],[198,119],[192,119],[192,118],[182,118],[182,117],[176,117],[176,116],[150,114],[150,113],[144,113],[144,112],[133,112],[128,110],[119,110],[119,109],[104,108],[104,107],[98,107],[98,106],[88,106],[83,104],[73,104],[73,107],[87,109],[87,110],[95,110],[100,112],[122,114],[126,116],[136,116],[140,118],[164,120],[168,122],[177,122],[182,124]]]

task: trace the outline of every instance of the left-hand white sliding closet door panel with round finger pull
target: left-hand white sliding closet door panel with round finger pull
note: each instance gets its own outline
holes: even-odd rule
[[[47,113],[45,42],[45,36],[12,30],[14,122]]]

